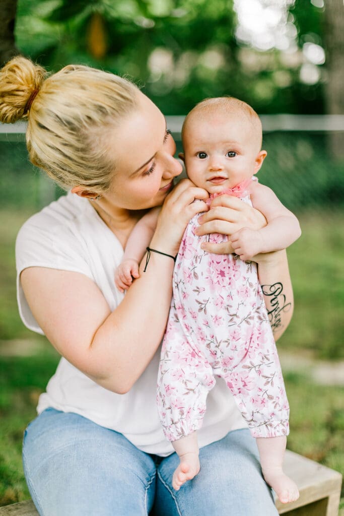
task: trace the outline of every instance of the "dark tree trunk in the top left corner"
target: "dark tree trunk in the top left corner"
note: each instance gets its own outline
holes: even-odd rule
[[[20,52],[15,46],[14,25],[17,0],[2,0],[0,10],[0,66]]]

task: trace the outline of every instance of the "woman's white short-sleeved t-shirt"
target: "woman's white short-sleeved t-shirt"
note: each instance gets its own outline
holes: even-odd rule
[[[91,204],[72,193],[30,217],[16,243],[17,296],[24,324],[43,334],[25,299],[20,282],[22,270],[49,267],[80,272],[97,284],[110,310],[114,310],[123,299],[114,284],[114,270],[122,255],[118,239]],[[39,398],[37,411],[53,407],[75,412],[123,433],[147,453],[169,455],[173,448],[163,436],[155,402],[158,362],[159,350],[133,388],[126,394],[116,394],[61,358],[46,392]],[[230,430],[245,427],[232,394],[224,381],[218,379],[207,398],[203,427],[198,432],[200,446],[222,439]]]

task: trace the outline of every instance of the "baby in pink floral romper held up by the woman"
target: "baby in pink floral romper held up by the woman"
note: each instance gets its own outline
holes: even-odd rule
[[[207,393],[215,377],[225,380],[256,438],[266,482],[282,503],[298,498],[296,484],[282,469],[289,433],[289,406],[276,346],[258,282],[248,262],[258,253],[285,249],[301,234],[297,218],[273,191],[258,184],[267,152],[256,112],[238,99],[206,99],[187,115],[182,140],[189,179],[218,195],[242,199],[263,213],[263,229],[243,228],[228,237],[197,236],[200,215],[185,230],[173,272],[173,298],[162,343],[158,411],[165,436],[180,463],[173,475],[179,489],[200,470],[196,430],[202,426]],[[209,202],[210,202],[209,201]],[[159,208],[136,225],[116,272],[121,290],[139,276]],[[202,250],[206,240],[229,240],[233,254]]]

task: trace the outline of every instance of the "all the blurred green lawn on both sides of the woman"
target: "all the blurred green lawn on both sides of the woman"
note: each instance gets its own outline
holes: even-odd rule
[[[44,337],[24,328],[15,301],[14,239],[29,214],[0,211],[0,505],[29,497],[21,464],[22,436],[58,361]],[[300,220],[302,237],[288,251],[295,311],[278,346],[296,355],[342,358],[344,211],[308,212]],[[2,356],[1,350],[11,349],[13,340],[37,346],[28,357]],[[288,447],[344,474],[344,389],[316,385],[306,372],[286,374],[285,381],[291,407]],[[344,498],[341,506],[344,516]]]

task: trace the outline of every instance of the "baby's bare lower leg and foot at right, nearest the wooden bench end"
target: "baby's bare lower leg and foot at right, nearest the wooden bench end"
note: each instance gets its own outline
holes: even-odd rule
[[[296,483],[285,475],[282,469],[286,443],[287,438],[285,436],[257,438],[263,476],[283,504],[293,502],[299,498]]]

